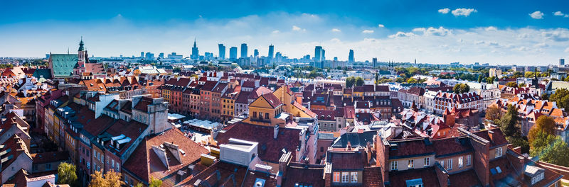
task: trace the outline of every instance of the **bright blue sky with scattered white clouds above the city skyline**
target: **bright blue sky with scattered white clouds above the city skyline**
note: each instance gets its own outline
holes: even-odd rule
[[[569,58],[569,1],[0,1],[0,56],[76,50],[95,56],[266,55],[448,63],[554,64]],[[560,12],[558,12],[560,11]],[[558,13],[556,13],[558,12]]]

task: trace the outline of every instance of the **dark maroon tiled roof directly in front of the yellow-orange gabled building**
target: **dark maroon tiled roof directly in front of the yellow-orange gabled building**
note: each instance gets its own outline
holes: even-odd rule
[[[220,132],[216,137],[218,145],[227,144],[229,138],[237,138],[251,142],[259,142],[258,153],[260,159],[266,162],[279,162],[282,149],[287,152],[296,152],[299,146],[301,130],[294,128],[279,128],[277,139],[273,137],[275,128],[249,123],[236,123],[225,132]],[[294,160],[294,154],[292,154]]]

